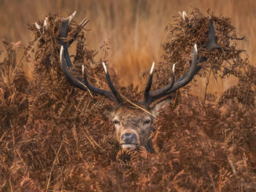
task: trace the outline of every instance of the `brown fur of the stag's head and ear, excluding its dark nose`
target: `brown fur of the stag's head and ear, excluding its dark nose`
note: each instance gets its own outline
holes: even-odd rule
[[[152,147],[152,141],[150,139],[151,133],[154,131],[152,123],[154,121],[153,115],[157,115],[163,107],[169,104],[169,100],[155,104],[152,108],[147,108],[141,105],[146,111],[134,107],[130,104],[122,104],[117,107],[113,107],[112,110],[106,110],[105,116],[107,116],[115,126],[115,139],[120,146],[122,146],[122,135],[124,133],[134,133],[136,135],[136,147],[143,146],[149,152],[154,152]],[[116,123],[118,122],[118,123]],[[123,147],[126,148],[126,147]]]

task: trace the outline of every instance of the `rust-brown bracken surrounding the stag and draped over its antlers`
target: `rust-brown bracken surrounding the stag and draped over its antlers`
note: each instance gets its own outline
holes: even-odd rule
[[[207,96],[199,100],[188,94],[190,86],[177,92],[174,105],[154,123],[155,154],[143,147],[119,150],[111,123],[101,116],[110,103],[68,84],[59,67],[60,16],[47,16],[48,26],[42,31],[30,26],[35,40],[24,55],[33,49],[35,58],[26,59],[34,61],[34,82],[24,78],[21,64],[16,67],[20,44],[5,42],[6,56],[0,63],[0,190],[256,190],[255,67],[243,59],[243,50],[236,49],[239,37],[231,20],[210,15],[221,50],[207,53],[203,49],[207,16],[194,10],[188,22],[174,17],[166,27],[170,37],[163,44],[165,53],[155,70],[154,88],[170,78],[170,63],[177,63],[177,76],[183,74],[195,42],[199,56],[208,58],[200,63],[201,75],[235,75],[239,83],[220,100],[207,100]],[[43,20],[38,24],[42,26]],[[73,22],[69,37],[76,27]],[[71,59],[76,73],[81,74],[85,63],[90,82],[106,88],[101,62],[94,60],[97,52],[86,46],[86,32],[77,37]],[[111,74],[117,85],[115,72]],[[117,87],[130,100],[139,99],[133,85]]]

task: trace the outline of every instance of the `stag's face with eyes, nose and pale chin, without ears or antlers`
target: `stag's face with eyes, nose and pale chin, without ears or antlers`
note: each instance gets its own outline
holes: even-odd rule
[[[115,107],[106,114],[115,126],[115,139],[120,147],[135,150],[146,146],[154,121],[151,114],[127,106]]]

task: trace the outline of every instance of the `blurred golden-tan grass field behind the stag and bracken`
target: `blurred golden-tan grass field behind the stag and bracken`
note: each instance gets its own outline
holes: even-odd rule
[[[161,44],[166,37],[164,31],[168,21],[178,11],[189,13],[198,8],[202,13],[223,13],[232,19],[240,36],[246,41],[241,43],[241,49],[246,49],[252,63],[256,63],[256,1],[254,0],[0,0],[0,38],[10,42],[21,41],[23,45],[33,38],[27,30],[27,24],[32,24],[38,18],[48,13],[60,13],[68,16],[77,10],[76,21],[84,17],[90,19],[87,33],[87,44],[90,48],[100,50],[104,42],[110,43],[108,63],[112,64],[120,77],[120,84],[134,82],[140,84],[139,74],[149,68],[152,61],[161,61],[163,49]],[[3,45],[0,45],[3,50]],[[32,67],[28,64],[27,74]],[[221,92],[232,85],[230,80],[216,81],[210,79],[209,92]],[[199,87],[205,85],[205,79],[198,82]],[[197,95],[204,95],[204,89],[196,90]]]

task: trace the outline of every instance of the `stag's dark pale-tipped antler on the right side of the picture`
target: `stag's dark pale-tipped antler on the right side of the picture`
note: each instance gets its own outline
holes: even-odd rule
[[[212,51],[214,49],[219,49],[219,48],[220,46],[217,44],[216,38],[215,38],[214,21],[210,18],[210,27],[208,31],[206,49],[208,51]],[[158,100],[163,96],[169,95],[171,92],[175,92],[177,89],[180,89],[181,87],[187,85],[189,82],[192,81],[192,78],[195,76],[195,74],[197,74],[198,71],[201,69],[201,67],[197,66],[196,64],[201,63],[205,60],[207,60],[206,57],[201,57],[198,60],[197,46],[195,44],[193,48],[192,62],[189,67],[189,70],[185,74],[183,74],[181,78],[178,78],[177,81],[175,82],[175,76],[174,76],[175,64],[174,64],[172,74],[171,74],[171,80],[168,83],[168,85],[166,85],[161,89],[157,89],[155,91],[149,92],[152,86],[153,70],[154,70],[154,64],[155,64],[153,63],[152,69],[148,77],[148,83],[146,85],[146,88],[144,89],[143,103],[149,106],[155,100]]]

